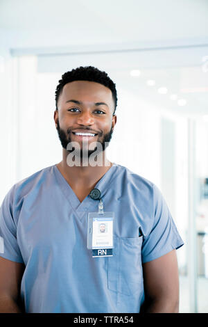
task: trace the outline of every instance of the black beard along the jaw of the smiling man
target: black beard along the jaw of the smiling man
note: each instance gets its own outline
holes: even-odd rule
[[[68,138],[67,138],[67,133],[65,133],[65,131],[63,129],[60,128],[60,125],[59,125],[59,120],[57,121],[57,127],[56,127],[57,131],[58,131],[58,137],[60,139],[60,143],[62,144],[62,147],[64,149],[67,150],[67,145],[69,143],[71,143],[71,132],[70,130],[67,130],[67,133],[69,134]],[[85,131],[87,131],[87,129],[85,129]],[[102,146],[102,149],[103,151],[107,148],[107,146],[109,145],[110,143],[110,140],[112,138],[112,133],[113,133],[113,130],[112,130],[112,127],[110,129],[110,131],[106,134],[104,134],[104,137],[103,137],[103,141],[101,141],[99,138],[98,138],[98,141],[101,146]],[[74,147],[72,148],[72,150],[67,150],[67,152],[72,152],[74,150]],[[97,150],[97,147],[94,148],[94,150],[88,150],[88,157],[94,153],[95,151]],[[86,153],[86,150],[85,150],[85,153]],[[80,157],[83,158],[83,149],[80,149]]]

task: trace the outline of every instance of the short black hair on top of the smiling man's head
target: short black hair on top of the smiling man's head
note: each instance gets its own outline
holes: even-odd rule
[[[55,108],[58,110],[58,98],[65,84],[70,83],[71,81],[94,81],[96,83],[103,84],[107,88],[110,88],[112,92],[112,97],[114,99],[114,113],[117,106],[117,92],[116,84],[110,79],[106,72],[98,70],[98,68],[93,66],[80,66],[76,69],[73,69],[69,72],[65,72],[60,79],[59,84],[55,90]],[[113,113],[113,114],[114,114]]]

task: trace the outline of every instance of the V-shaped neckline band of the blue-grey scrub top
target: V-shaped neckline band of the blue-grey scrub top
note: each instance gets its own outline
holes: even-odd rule
[[[107,172],[101,177],[100,180],[96,183],[94,186],[94,189],[99,189],[101,191],[101,197],[105,196],[105,193],[107,192],[107,189],[110,187],[110,184],[112,183],[112,180],[114,180],[116,170],[119,165],[116,163],[113,163],[113,165],[107,170]],[[58,181],[58,184],[60,186],[60,189],[62,189],[62,192],[64,193],[64,196],[69,201],[71,207],[75,212],[85,212],[87,211],[90,203],[94,205],[94,200],[90,198],[90,196],[86,196],[86,198],[80,202],[76,194],[73,192],[73,189],[71,189],[71,186],[65,180],[62,173],[60,173],[60,170],[56,165],[53,166],[53,171],[55,173],[55,177]]]

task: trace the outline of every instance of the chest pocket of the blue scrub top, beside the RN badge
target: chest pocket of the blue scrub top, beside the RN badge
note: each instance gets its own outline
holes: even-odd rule
[[[113,256],[108,257],[107,287],[132,295],[141,289],[143,273],[141,246],[143,237],[114,237]]]

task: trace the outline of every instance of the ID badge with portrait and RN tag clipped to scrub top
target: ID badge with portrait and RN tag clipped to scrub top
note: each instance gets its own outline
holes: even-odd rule
[[[114,212],[88,213],[87,248],[92,257],[110,257],[114,248]]]

